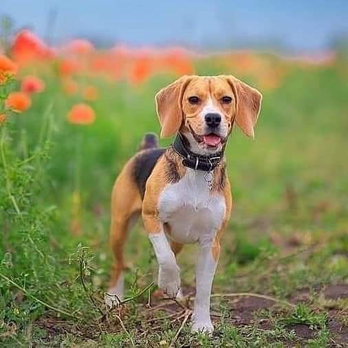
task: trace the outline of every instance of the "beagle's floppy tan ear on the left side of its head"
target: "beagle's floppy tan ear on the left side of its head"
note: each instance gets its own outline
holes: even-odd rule
[[[182,125],[182,96],[191,79],[192,76],[182,76],[156,94],[155,103],[161,124],[161,138],[179,131]]]

